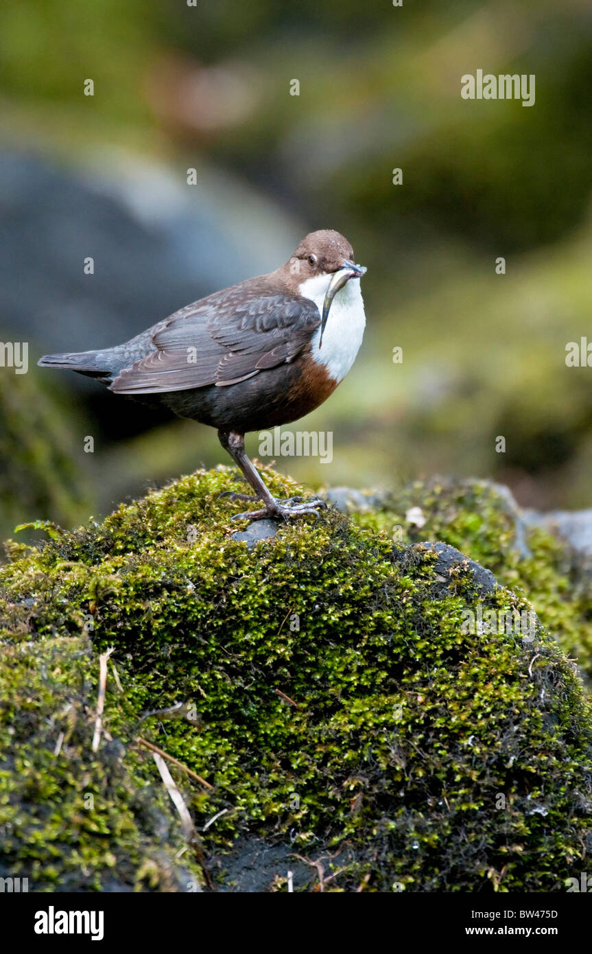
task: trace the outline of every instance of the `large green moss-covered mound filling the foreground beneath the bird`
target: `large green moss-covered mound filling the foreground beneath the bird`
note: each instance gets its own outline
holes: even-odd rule
[[[31,890],[105,887],[113,870],[119,885],[183,889],[172,810],[153,758],[134,746],[141,734],[214,786],[170,765],[221,882],[256,840],[322,855],[335,875],[326,890],[564,890],[592,849],[582,683],[552,632],[462,625],[479,604],[530,609],[523,595],[486,591],[461,559],[442,575],[433,548],[336,510],[248,550],[232,538],[236,505],[219,497],[233,489],[234,470],[200,471],[101,525],[49,527],[38,549],[10,544],[3,867],[29,874]],[[93,755],[107,647],[122,691],[110,668],[112,741]],[[177,702],[197,718],[138,722]],[[152,828],[138,799],[156,811]],[[190,851],[182,862],[187,881]]]

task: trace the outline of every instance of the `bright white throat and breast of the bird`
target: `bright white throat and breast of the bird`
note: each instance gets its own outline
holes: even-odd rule
[[[313,279],[302,281],[298,288],[298,294],[315,302],[319,315],[322,315],[325,292],[332,278],[332,275],[316,275]],[[320,328],[316,329],[311,341],[313,358],[317,363],[324,364],[337,382],[345,378],[355,362],[365,326],[359,279],[350,279],[333,300],[320,350]]]

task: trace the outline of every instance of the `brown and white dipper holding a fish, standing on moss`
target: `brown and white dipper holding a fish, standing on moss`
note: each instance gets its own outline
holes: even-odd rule
[[[274,497],[245,452],[245,434],[291,424],[343,380],[364,333],[365,272],[347,239],[320,229],[276,271],[194,301],[129,342],[44,355],[38,364],[215,427],[255,492],[228,496],[262,504],[233,520],[318,516],[326,504],[317,497]]]

